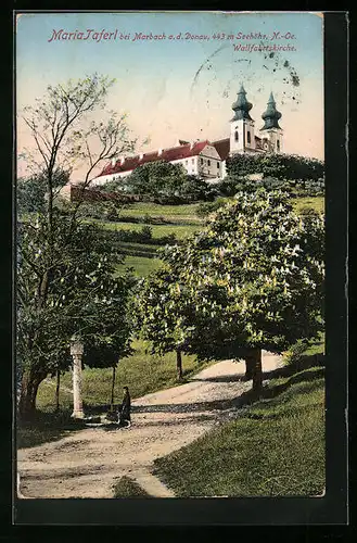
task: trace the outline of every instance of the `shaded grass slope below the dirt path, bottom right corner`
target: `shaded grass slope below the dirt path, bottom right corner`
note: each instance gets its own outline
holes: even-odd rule
[[[296,382],[238,414],[235,420],[155,460],[155,475],[177,497],[323,493],[323,378]]]

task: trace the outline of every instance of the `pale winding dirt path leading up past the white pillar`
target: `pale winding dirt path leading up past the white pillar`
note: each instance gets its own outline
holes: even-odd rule
[[[282,364],[263,353],[264,371]],[[252,387],[243,382],[244,364],[219,362],[190,382],[132,402],[128,430],[93,427],[31,449],[21,449],[17,466],[24,497],[113,497],[123,476],[149,494],[174,497],[151,473],[155,458],[181,449],[219,422],[233,400]]]

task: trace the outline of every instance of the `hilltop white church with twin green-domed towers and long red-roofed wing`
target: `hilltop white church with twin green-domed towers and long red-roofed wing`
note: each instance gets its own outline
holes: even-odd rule
[[[226,177],[228,156],[238,153],[281,153],[283,140],[283,130],[279,126],[281,113],[276,108],[272,92],[262,115],[264,126],[259,129],[259,136],[255,134],[255,122],[250,115],[252,108],[253,104],[247,101],[242,85],[232,104],[234,115],[229,122],[229,138],[212,142],[178,140],[173,148],[113,159],[93,180],[93,185],[118,180],[130,175],[138,166],[155,161],[182,164],[189,175],[196,175],[214,182]]]

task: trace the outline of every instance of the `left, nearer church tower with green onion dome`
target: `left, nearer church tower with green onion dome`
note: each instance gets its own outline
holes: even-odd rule
[[[254,121],[250,115],[252,108],[253,105],[246,100],[246,92],[242,85],[232,104],[234,116],[230,121],[230,154],[255,150]]]

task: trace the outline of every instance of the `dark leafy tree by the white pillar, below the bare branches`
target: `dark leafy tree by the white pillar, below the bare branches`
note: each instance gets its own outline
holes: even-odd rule
[[[43,305],[39,305],[39,278],[48,270],[48,253],[42,250],[47,232],[43,225],[18,227],[17,355],[23,367],[23,416],[34,413],[40,382],[69,366],[68,345],[74,333],[81,336],[86,351],[104,345],[119,357],[128,349],[129,330],[124,324],[131,278],[114,279],[120,256],[98,235],[97,227],[77,225],[68,236],[69,222],[62,217],[53,223],[55,266],[50,269]]]

